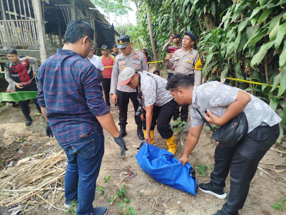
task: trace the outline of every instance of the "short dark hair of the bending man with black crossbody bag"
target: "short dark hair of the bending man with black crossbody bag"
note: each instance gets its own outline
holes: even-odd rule
[[[176,74],[169,79],[166,85],[166,89],[170,90],[171,88],[172,91],[177,92],[179,88],[188,89],[191,86],[193,86],[193,84],[188,75]]]

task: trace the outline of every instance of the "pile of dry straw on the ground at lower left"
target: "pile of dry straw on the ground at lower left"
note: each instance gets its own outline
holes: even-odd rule
[[[54,205],[63,197],[63,192],[57,198],[55,193],[56,190],[63,191],[57,186],[65,175],[65,161],[63,150],[49,151],[39,158],[36,155],[3,169],[0,173],[0,206],[7,206],[10,212],[26,212],[43,203],[56,208]]]

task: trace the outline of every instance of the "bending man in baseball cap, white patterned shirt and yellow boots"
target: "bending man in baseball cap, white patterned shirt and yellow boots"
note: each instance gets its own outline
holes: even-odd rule
[[[168,151],[174,155],[177,149],[176,139],[170,127],[170,120],[178,104],[170,91],[166,90],[167,81],[147,71],[136,72],[130,67],[121,72],[121,77],[123,81],[120,86],[128,85],[136,89],[139,103],[146,111],[141,114],[146,144],[154,144],[154,128],[157,124],[159,134],[167,142]]]

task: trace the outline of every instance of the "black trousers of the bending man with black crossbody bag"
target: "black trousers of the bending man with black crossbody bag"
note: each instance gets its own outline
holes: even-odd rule
[[[215,149],[215,166],[210,174],[214,189],[223,189],[230,173],[230,192],[222,211],[225,215],[236,215],[243,208],[258,163],[279,136],[279,125],[258,126],[235,147]]]

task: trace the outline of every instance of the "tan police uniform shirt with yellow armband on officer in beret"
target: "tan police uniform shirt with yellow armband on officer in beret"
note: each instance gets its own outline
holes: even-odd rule
[[[179,49],[174,52],[170,60],[164,60],[163,64],[168,68],[175,68],[174,74],[182,73],[185,75],[194,74],[194,86],[198,86],[202,81],[202,63],[200,54],[195,49],[184,51]]]

